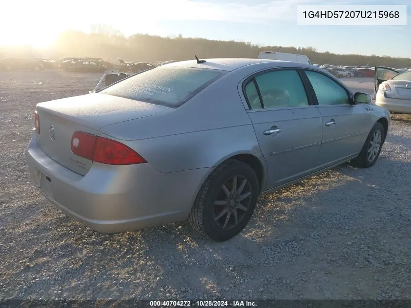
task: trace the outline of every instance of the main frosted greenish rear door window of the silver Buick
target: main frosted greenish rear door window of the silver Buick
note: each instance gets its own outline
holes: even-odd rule
[[[255,77],[264,108],[307,106],[300,75],[295,70],[267,72]]]

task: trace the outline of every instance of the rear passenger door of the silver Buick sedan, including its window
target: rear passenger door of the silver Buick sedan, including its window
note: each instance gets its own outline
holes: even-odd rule
[[[306,82],[306,81],[305,81]],[[244,83],[258,144],[268,166],[267,189],[313,172],[321,144],[321,114],[295,69],[258,73]]]

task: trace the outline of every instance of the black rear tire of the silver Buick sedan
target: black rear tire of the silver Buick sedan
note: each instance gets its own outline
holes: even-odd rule
[[[237,203],[231,203],[231,205],[215,205],[215,202],[229,203],[228,200],[230,200],[230,197],[227,195],[229,187],[225,185],[234,177],[239,179],[239,181],[236,181],[237,188],[241,188],[243,181],[247,180],[243,189],[243,192],[245,191],[246,193],[240,195],[240,197],[244,197],[250,192],[249,197],[245,198],[241,202],[238,202],[239,205],[237,205]],[[223,185],[226,187],[226,194],[223,198],[221,198],[221,193],[224,195]],[[234,185],[232,184],[232,186]],[[231,191],[232,186],[230,187]],[[203,236],[207,236],[215,241],[226,241],[240,233],[250,221],[250,218],[254,213],[258,196],[258,179],[254,170],[246,163],[237,160],[228,160],[215,168],[213,173],[201,186],[193,208],[191,209],[190,216],[188,217],[188,221],[193,228]],[[225,198],[227,198],[227,200],[225,200]],[[242,203],[247,204],[247,206],[242,205]],[[246,208],[247,210],[240,208],[240,206],[242,208]],[[221,209],[221,212],[217,211],[216,213],[216,210],[218,209]],[[223,215],[218,218],[224,211],[228,211],[226,212],[227,215]],[[231,225],[235,222],[234,214],[231,214],[234,213],[234,211],[237,213],[238,223]],[[222,220],[224,220],[225,223],[229,214],[229,223],[226,223],[226,226],[224,227]],[[217,217],[215,217],[215,215],[217,215]],[[229,224],[231,225],[230,227]]]

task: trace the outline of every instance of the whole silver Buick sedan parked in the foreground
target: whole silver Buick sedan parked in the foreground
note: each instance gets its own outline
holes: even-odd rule
[[[37,104],[27,162],[44,196],[96,231],[188,218],[223,241],[260,194],[348,161],[374,165],[390,114],[370,100],[302,63],[171,63]]]

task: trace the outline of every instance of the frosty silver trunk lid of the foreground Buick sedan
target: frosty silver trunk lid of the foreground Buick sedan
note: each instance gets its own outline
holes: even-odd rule
[[[71,151],[75,131],[98,135],[100,128],[123,121],[148,117],[174,109],[99,93],[40,103],[40,149],[55,162],[86,175],[92,161]]]

